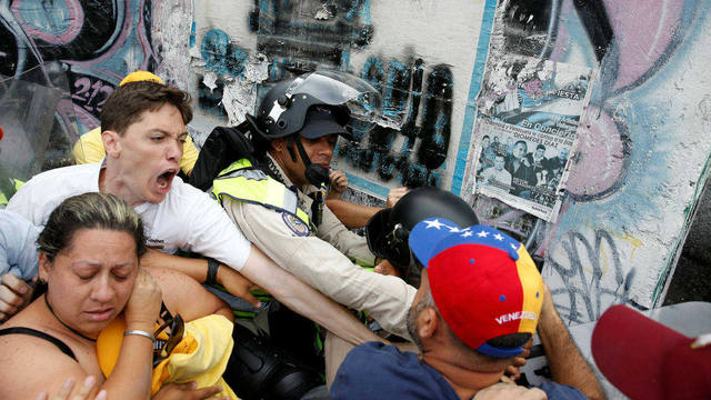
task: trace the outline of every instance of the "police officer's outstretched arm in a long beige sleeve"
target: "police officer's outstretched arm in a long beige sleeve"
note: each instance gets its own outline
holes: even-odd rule
[[[385,330],[409,338],[407,314],[417,291],[414,288],[399,278],[380,276],[354,266],[333,246],[309,236],[308,228],[302,222],[283,213],[229,198],[223,200],[223,204],[244,236],[283,269],[334,301],[369,312]],[[327,211],[324,209],[324,221]],[[336,219],[332,213],[330,218]],[[364,242],[362,238],[360,241]],[[262,286],[262,282],[246,270],[242,273]],[[270,292],[274,294],[273,291]],[[313,320],[316,317],[312,316],[316,314],[323,318],[318,304],[307,303],[307,307],[306,312],[297,309],[294,311]],[[348,340],[348,337],[338,332],[342,327],[332,322],[324,326]]]

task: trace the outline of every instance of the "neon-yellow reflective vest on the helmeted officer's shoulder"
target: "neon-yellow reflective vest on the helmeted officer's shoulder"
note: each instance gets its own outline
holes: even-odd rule
[[[299,197],[283,183],[257,169],[248,159],[232,162],[212,182],[212,193],[220,203],[227,196],[237,201],[261,204],[279,212],[287,212],[309,229],[309,234],[316,230],[311,226],[309,214],[299,208]]]

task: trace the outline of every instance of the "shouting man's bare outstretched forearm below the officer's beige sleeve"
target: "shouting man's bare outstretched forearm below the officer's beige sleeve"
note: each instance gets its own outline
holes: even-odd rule
[[[344,308],[279,268],[257,247],[252,247],[240,272],[291,310],[319,323],[350,343],[382,341]]]

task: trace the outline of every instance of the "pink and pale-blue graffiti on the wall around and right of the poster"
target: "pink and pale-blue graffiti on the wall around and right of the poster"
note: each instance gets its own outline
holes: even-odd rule
[[[498,6],[490,58],[522,54],[600,69],[570,156],[559,223],[474,199],[478,213],[518,231],[532,253],[544,257],[555,302],[571,323],[595,320],[612,303],[643,309],[661,300],[683,234],[663,237],[659,216],[673,216],[677,229],[688,228],[687,210],[671,212],[679,198],[668,193],[679,182],[693,187],[708,158],[708,147],[700,146],[693,174],[674,176],[673,147],[697,139],[683,128],[692,123],[683,121],[683,111],[679,120],[685,102],[663,82],[700,73],[690,72],[679,53],[700,48],[693,38],[704,21],[702,9],[702,2],[693,1],[509,0]],[[675,84],[677,92],[695,90],[688,82]],[[689,201],[694,196],[692,190]],[[630,242],[633,236],[641,239]]]

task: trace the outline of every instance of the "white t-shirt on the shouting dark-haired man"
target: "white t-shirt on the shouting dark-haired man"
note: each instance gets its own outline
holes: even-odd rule
[[[98,192],[100,171],[101,163],[89,163],[42,172],[12,196],[7,209],[43,227],[64,199]],[[163,201],[133,209],[143,219],[150,248],[166,253],[194,251],[238,271],[249,257],[250,242],[220,204],[178,177]]]

